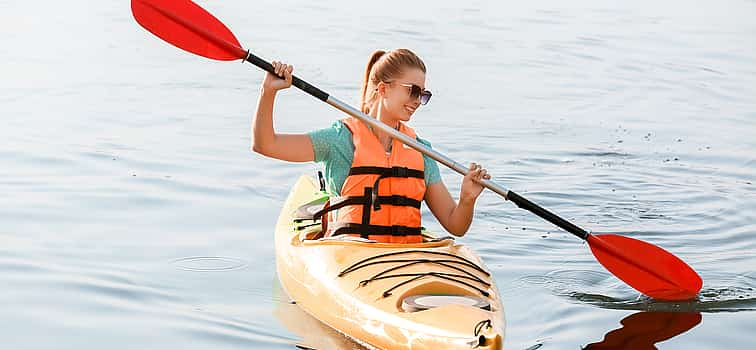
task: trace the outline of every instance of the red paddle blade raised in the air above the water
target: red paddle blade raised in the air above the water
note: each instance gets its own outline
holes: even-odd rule
[[[142,27],[180,49],[222,61],[247,55],[221,21],[189,0],[131,0],[131,12]]]

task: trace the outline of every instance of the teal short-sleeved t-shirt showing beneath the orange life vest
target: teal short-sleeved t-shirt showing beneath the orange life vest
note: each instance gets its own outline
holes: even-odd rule
[[[335,121],[331,127],[311,131],[312,148],[315,151],[315,161],[325,166],[325,180],[331,195],[341,195],[341,187],[349,174],[354,160],[354,143],[352,132],[341,120]],[[430,142],[417,138],[417,141],[431,147]],[[441,181],[438,164],[430,157],[423,155],[425,185]]]

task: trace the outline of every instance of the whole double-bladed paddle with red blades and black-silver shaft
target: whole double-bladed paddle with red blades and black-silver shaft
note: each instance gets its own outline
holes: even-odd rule
[[[249,50],[242,49],[234,34],[223,23],[190,0],[132,0],[131,10],[142,27],[180,49],[215,60],[245,60],[275,74],[269,62]],[[338,110],[390,134],[452,170],[462,175],[467,173],[467,168],[462,164],[339,101],[304,80],[294,76],[292,84]],[[587,241],[599,263],[645,295],[660,300],[687,300],[694,298],[701,290],[701,277],[685,262],[660,247],[615,234],[588,233],[493,181],[482,180],[481,184],[518,207]]]

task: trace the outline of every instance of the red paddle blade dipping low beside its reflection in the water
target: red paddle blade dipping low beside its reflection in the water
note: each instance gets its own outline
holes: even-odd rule
[[[703,281],[672,253],[637,239],[604,234],[588,236],[601,265],[639,292],[659,300],[688,300]]]

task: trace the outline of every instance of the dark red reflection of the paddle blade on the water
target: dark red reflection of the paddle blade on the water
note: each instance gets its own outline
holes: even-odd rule
[[[654,344],[685,333],[700,322],[698,312],[638,312],[622,319],[622,328],[610,331],[601,342],[583,349],[652,350],[656,349]]]

